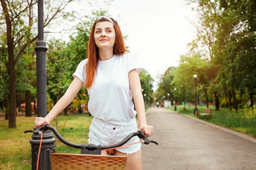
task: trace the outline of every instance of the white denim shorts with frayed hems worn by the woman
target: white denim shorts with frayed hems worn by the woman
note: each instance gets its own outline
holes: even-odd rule
[[[124,126],[115,126],[106,124],[105,122],[101,121],[101,119],[94,117],[90,125],[88,143],[101,146],[114,145],[125,139],[131,133],[137,132],[137,130],[138,127],[136,119],[133,119]],[[139,141],[139,137],[135,136],[132,137],[126,144],[132,144]],[[122,148],[117,148],[116,150],[122,153],[126,153],[127,155],[131,155],[132,153],[138,152],[140,148],[141,143],[138,143]]]

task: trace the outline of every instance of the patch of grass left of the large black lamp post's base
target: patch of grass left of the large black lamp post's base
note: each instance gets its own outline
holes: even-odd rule
[[[16,117],[16,128],[8,128],[8,121],[0,118],[0,169],[31,170],[32,134],[24,134],[32,130],[35,117]]]

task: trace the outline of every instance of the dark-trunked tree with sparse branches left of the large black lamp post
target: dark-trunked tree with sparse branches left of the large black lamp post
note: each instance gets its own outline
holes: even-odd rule
[[[46,0],[45,24],[48,26],[54,19],[68,17],[69,13],[63,13],[63,9],[72,0],[59,0],[51,2]],[[37,39],[36,31],[33,29],[36,24],[36,0],[0,0],[2,13],[6,24],[7,49],[8,49],[8,75],[9,75],[9,128],[16,128],[16,71],[15,65],[25,49]],[[54,3],[56,6],[52,6]],[[1,18],[2,19],[2,18]]]

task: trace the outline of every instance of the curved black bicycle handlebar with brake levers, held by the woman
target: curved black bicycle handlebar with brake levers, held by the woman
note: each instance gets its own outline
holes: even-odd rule
[[[63,136],[61,136],[61,134],[58,132],[58,130],[56,130],[54,127],[50,126],[49,124],[44,124],[42,127],[40,128],[37,128],[36,130],[26,130],[24,131],[24,133],[27,133],[27,132],[33,132],[34,135],[39,135],[47,130],[51,130],[52,132],[54,132],[54,134],[56,135],[56,137],[61,141],[63,142],[63,144],[67,145],[67,146],[70,146],[70,147],[73,147],[73,148],[81,148],[81,153],[86,153],[86,154],[91,154],[90,151],[94,152],[94,151],[97,151],[98,154],[99,152],[101,152],[101,149],[110,149],[110,148],[116,148],[116,147],[119,147],[119,146],[123,146],[127,141],[129,141],[132,137],[135,137],[135,136],[138,136],[140,139],[143,139],[142,143],[144,144],[149,144],[149,143],[154,143],[156,145],[158,145],[158,143],[156,141],[150,141],[148,140],[148,138],[146,137],[146,135],[144,135],[144,133],[142,132],[142,130],[139,130],[137,132],[134,132],[134,133],[131,133],[130,135],[128,135],[124,140],[122,140],[121,142],[117,143],[117,144],[114,144],[114,145],[110,145],[110,146],[101,146],[101,145],[94,145],[94,144],[88,144],[88,145],[85,145],[85,144],[74,144],[70,141],[67,141]],[[88,150],[87,151],[82,151],[82,150]],[[94,153],[93,153],[94,154]]]

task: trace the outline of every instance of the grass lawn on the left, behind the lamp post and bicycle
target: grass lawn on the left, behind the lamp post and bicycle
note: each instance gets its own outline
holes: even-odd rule
[[[0,117],[0,170],[31,170],[31,144],[35,117],[16,117],[16,128],[8,128],[8,120]],[[56,119],[55,119],[56,120]],[[56,121],[52,126],[56,127]],[[67,120],[67,121],[66,121]],[[70,114],[58,116],[58,130],[63,137],[73,143],[87,144],[91,116],[88,114]],[[79,149],[56,142],[56,152],[80,153]]]

